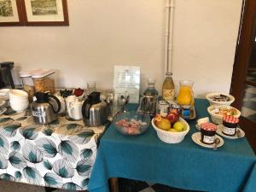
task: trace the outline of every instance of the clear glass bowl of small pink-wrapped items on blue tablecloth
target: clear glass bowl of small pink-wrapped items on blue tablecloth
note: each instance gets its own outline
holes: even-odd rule
[[[140,135],[148,129],[150,117],[139,112],[119,113],[114,119],[115,128],[124,135]]]

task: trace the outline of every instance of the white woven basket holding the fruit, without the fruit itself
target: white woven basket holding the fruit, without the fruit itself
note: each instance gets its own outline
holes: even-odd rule
[[[181,132],[171,132],[171,131],[164,131],[158,128],[156,125],[154,125],[154,119],[152,119],[152,125],[154,127],[154,130],[157,133],[157,136],[160,138],[161,141],[165,143],[181,143],[184,139],[184,137],[188,134],[190,128],[187,121],[185,121],[183,118],[179,118],[179,121],[182,121],[185,126],[186,130]]]

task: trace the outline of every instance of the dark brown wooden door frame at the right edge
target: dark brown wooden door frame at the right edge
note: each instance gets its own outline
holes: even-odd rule
[[[232,104],[241,109],[245,84],[256,86],[254,82],[247,81],[247,67],[252,51],[253,36],[255,34],[256,1],[244,0],[241,14],[241,28],[236,46],[236,56],[233,67],[230,94],[236,97]],[[241,128],[246,132],[247,140],[256,153],[256,123],[241,117]]]

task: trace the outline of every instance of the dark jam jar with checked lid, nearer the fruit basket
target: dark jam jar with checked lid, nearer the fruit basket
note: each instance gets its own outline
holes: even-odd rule
[[[202,123],[201,127],[201,142],[205,144],[213,144],[217,131],[217,125],[212,123]]]

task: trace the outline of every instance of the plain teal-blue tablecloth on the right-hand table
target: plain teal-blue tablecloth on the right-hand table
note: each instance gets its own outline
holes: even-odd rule
[[[208,116],[206,100],[196,99],[197,118]],[[135,110],[136,106],[131,106]],[[102,136],[90,176],[90,192],[107,192],[109,177],[162,183],[211,192],[256,191],[256,157],[247,139],[224,139],[217,151],[195,144],[195,120],[182,143],[163,143],[152,125],[143,135],[119,134],[110,125]]]

